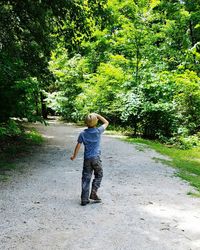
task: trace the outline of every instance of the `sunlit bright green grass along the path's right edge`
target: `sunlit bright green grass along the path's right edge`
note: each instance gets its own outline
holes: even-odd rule
[[[170,157],[171,161],[164,163],[177,168],[179,170],[177,175],[188,181],[197,190],[197,193],[189,192],[188,194],[200,197],[200,147],[183,150],[141,138],[127,137],[125,140],[134,144],[148,145],[162,155]]]

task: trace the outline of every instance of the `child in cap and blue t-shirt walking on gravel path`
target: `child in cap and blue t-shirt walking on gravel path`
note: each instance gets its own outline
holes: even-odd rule
[[[103,125],[96,128],[97,122],[100,120]],[[89,203],[89,189],[92,173],[94,171],[94,179],[92,182],[92,190],[90,193],[90,199],[95,202],[101,202],[101,199],[97,196],[97,190],[100,187],[103,177],[103,169],[100,159],[100,139],[101,134],[107,128],[109,122],[101,115],[92,113],[87,115],[85,122],[88,126],[87,129],[82,131],[78,137],[78,142],[74,150],[74,154],[71,156],[73,161],[81,147],[84,144],[84,163],[82,171],[82,192],[81,192],[81,205],[85,206]]]

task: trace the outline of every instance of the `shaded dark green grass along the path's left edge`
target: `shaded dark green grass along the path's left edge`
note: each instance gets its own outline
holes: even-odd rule
[[[35,130],[29,129],[17,137],[1,138],[0,145],[0,181],[9,180],[10,174],[17,168],[15,159],[29,154],[35,145],[41,145],[44,139]]]

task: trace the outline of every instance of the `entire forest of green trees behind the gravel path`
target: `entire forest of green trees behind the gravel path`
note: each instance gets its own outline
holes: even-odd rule
[[[0,2],[0,138],[12,119],[104,115],[133,136],[200,145],[199,0]]]

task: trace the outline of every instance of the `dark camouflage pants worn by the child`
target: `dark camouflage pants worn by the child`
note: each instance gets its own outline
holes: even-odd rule
[[[97,191],[100,187],[103,177],[103,169],[101,159],[85,159],[82,171],[82,192],[81,200],[88,200],[90,192],[90,181],[94,172],[94,179],[92,181],[92,190]]]

